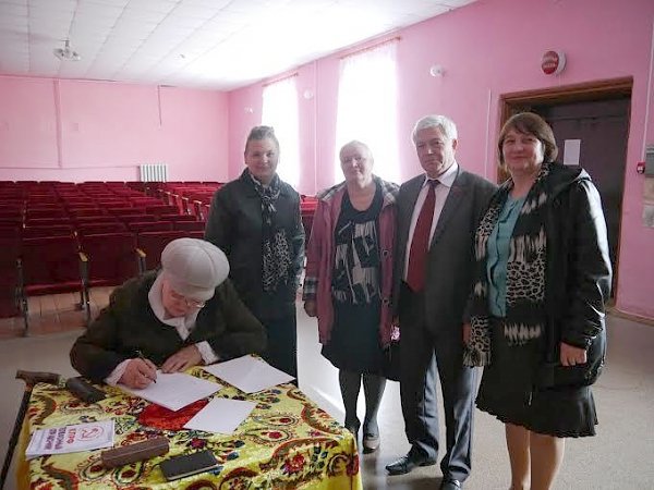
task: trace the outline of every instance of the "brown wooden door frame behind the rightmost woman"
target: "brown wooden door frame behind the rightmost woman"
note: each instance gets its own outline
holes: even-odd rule
[[[570,102],[584,102],[584,101],[597,101],[608,99],[631,99],[633,90],[633,77],[625,76],[620,78],[609,78],[603,81],[584,82],[581,84],[562,85],[558,87],[549,87],[535,90],[522,90],[509,94],[501,94],[499,96],[500,107],[500,124],[502,127],[505,122],[513,114],[522,111],[530,110],[533,106],[557,106],[560,103]],[[629,119],[628,119],[629,124]],[[627,156],[625,155],[625,158]],[[502,171],[498,166],[497,168],[497,182],[504,182],[508,174]],[[627,182],[627,180],[625,180]],[[625,187],[622,186],[622,196],[625,196]],[[622,228],[622,216],[620,215],[620,231]],[[621,233],[618,233],[620,237]],[[618,297],[618,272],[619,260],[620,260],[620,245],[621,240],[618,240],[618,248],[616,254],[616,266],[614,272],[614,295],[613,298]],[[610,302],[613,303],[613,301]]]

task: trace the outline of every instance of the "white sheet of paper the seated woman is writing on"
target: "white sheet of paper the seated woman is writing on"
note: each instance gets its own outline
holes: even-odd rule
[[[128,393],[177,412],[193,402],[216,393],[222,388],[222,384],[184,372],[164,373],[157,371],[157,382],[150,383],[143,390],[128,388],[124,384],[118,384],[118,387]]]

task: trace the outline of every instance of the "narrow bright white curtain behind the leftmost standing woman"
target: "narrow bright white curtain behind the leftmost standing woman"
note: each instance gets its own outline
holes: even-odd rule
[[[300,142],[298,122],[298,87],[295,76],[264,87],[262,124],[272,126],[279,139],[280,158],[277,173],[293,187],[300,183]]]

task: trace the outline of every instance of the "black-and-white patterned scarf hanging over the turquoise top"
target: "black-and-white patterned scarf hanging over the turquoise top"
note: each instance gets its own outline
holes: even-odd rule
[[[545,267],[549,164],[529,191],[509,241],[507,295],[504,336],[509,345],[524,345],[540,339],[545,329]],[[513,182],[507,181],[493,197],[474,238],[476,275],[472,290],[472,332],[463,362],[467,366],[491,364],[491,323],[488,314],[487,244]]]

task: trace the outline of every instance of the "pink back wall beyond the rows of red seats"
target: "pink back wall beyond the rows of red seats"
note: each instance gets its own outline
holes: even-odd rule
[[[218,91],[0,77],[0,180],[228,179],[228,96]]]

